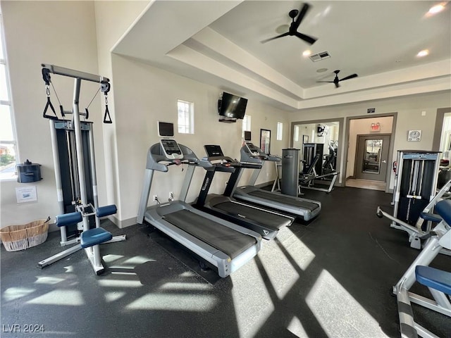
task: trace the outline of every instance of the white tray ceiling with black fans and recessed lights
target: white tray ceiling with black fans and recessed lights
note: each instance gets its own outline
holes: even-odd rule
[[[113,52],[291,111],[451,89],[451,4],[435,15],[426,13],[438,1],[309,4],[298,31],[313,45],[261,43],[302,1],[151,1]],[[313,62],[307,49],[331,57]],[[430,54],[419,58],[422,49]],[[359,76],[339,88],[317,82],[334,70]]]

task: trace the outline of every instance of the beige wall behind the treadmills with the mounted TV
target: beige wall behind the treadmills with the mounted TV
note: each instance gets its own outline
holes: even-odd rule
[[[113,78],[118,175],[121,182],[121,226],[135,223],[147,150],[159,142],[156,122],[163,120],[177,123],[177,99],[194,102],[194,134],[176,132],[175,139],[179,143],[190,147],[198,157],[205,156],[204,144],[219,144],[226,156],[240,158],[242,120],[237,123],[218,122],[217,102],[222,89],[117,55],[113,55]],[[288,144],[286,113],[250,99],[246,113],[252,116],[252,141],[259,144],[260,128],[269,129],[271,153],[281,154]],[[284,123],[282,141],[276,140],[277,122]],[[177,199],[185,176],[185,171],[182,172],[178,166],[169,169],[169,174],[156,173],[151,191],[151,196],[157,194],[163,201],[168,199],[169,192],[173,192]],[[271,163],[266,163],[257,184],[273,180],[276,175],[274,169]],[[197,168],[188,201],[194,201],[197,197],[204,174],[202,168]],[[243,184],[249,175],[243,175]],[[228,174],[217,173],[211,192],[222,193],[228,177]],[[149,205],[153,203],[149,201]]]

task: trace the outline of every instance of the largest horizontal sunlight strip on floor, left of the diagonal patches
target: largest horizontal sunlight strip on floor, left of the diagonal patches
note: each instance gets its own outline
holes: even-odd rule
[[[208,312],[218,303],[208,294],[146,294],[125,306],[127,310]]]

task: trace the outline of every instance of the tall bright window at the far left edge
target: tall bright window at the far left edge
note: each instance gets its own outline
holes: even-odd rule
[[[3,18],[0,13],[0,180],[16,179],[16,133],[10,97]]]

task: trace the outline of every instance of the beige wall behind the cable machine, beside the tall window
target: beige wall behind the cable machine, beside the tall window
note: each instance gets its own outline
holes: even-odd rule
[[[90,1],[1,1],[7,61],[11,77],[20,162],[27,158],[42,165],[43,180],[35,183],[0,182],[1,227],[54,218],[58,214],[54,163],[51,154],[49,121],[42,118],[47,102],[41,63],[97,73],[97,45],[94,4]],[[66,110],[72,106],[73,79],[51,75],[59,99]],[[82,83],[80,108],[97,91],[97,84]],[[52,104],[58,101],[51,90]],[[97,170],[104,173],[100,99],[89,107],[94,120]],[[99,195],[104,196],[104,180],[99,175]],[[16,187],[35,185],[37,202],[18,204]]]

